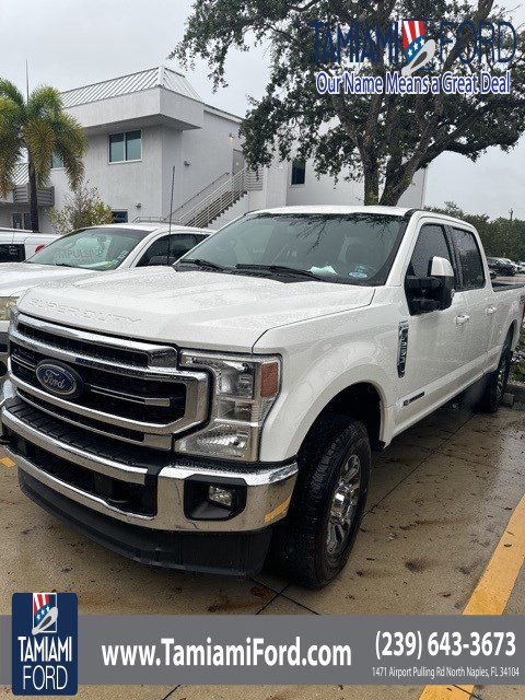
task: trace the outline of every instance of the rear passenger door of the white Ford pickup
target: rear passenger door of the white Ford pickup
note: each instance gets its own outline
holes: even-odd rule
[[[458,289],[467,304],[464,372],[469,382],[480,377],[488,362],[489,343],[498,307],[492,284],[485,273],[481,250],[471,231],[451,226],[459,268]]]

